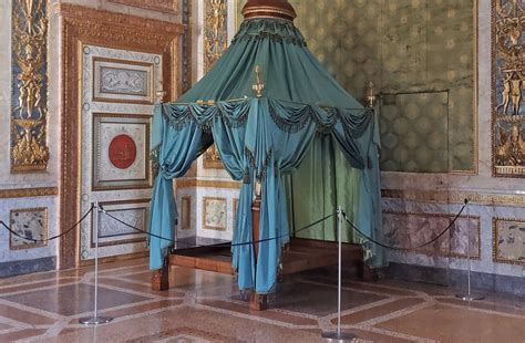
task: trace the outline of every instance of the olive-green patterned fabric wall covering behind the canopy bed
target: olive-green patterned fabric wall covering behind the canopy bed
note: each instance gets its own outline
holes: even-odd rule
[[[362,100],[373,81],[385,94],[381,169],[474,170],[475,1],[290,0],[309,49],[348,92]]]

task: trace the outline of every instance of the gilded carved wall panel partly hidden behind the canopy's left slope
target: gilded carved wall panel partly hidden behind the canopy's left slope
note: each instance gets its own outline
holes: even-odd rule
[[[228,48],[227,1],[206,0],[204,11],[204,71],[207,73]],[[215,144],[204,153],[203,158],[205,168],[224,168]]]

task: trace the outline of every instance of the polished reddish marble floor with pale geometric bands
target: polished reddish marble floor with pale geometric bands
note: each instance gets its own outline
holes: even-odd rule
[[[79,324],[92,314],[93,268],[0,280],[0,342],[323,342],[336,329],[332,273],[286,278],[270,310],[248,310],[229,276],[172,272],[172,289],[150,289],[145,260],[101,267],[99,306],[113,322]],[[525,300],[488,294],[465,303],[456,290],[394,280],[346,280],[342,329],[358,342],[525,342]]]

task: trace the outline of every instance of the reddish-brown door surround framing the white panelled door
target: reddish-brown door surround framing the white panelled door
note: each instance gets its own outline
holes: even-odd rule
[[[166,101],[177,97],[178,38],[181,24],[93,8],[56,3],[62,28],[61,103],[61,232],[80,219],[81,194],[81,90],[83,44],[133,50],[162,55]],[[60,242],[59,267],[75,268],[80,261],[78,231]]]

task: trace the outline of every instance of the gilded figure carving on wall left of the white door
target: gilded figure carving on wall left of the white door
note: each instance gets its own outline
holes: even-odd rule
[[[47,50],[47,1],[13,0],[11,173],[48,168]]]

